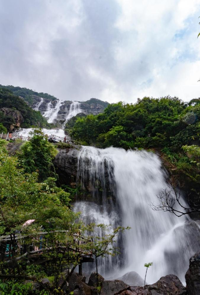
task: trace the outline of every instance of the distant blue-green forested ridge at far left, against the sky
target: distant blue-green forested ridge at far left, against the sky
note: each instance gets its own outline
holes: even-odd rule
[[[36,92],[35,90],[28,89],[28,88],[25,88],[25,87],[12,86],[12,85],[4,86],[4,85],[0,84],[0,88],[8,89],[8,90],[12,91],[13,94],[15,94],[17,96],[22,96],[23,99],[25,101],[27,101],[29,104],[33,103],[32,95],[36,95],[36,96],[39,96],[39,97],[42,97],[42,98],[46,98],[46,99],[49,99],[51,101],[57,99],[55,96],[50,95],[48,93]]]

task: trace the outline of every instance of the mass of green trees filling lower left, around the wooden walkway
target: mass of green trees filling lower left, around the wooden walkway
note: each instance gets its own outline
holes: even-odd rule
[[[67,288],[82,254],[114,255],[114,237],[124,229],[114,229],[111,235],[101,224],[105,237],[96,237],[96,242],[93,235],[88,237],[96,224],[84,225],[80,213],[70,209],[75,189],[59,188],[56,178],[48,177],[56,149],[40,129],[33,131],[20,154],[10,156],[7,144],[0,139],[0,292],[64,294],[62,288]],[[36,253],[39,265],[32,256],[29,260]],[[41,278],[49,278],[50,283],[44,286]],[[33,290],[33,282],[40,289]]]

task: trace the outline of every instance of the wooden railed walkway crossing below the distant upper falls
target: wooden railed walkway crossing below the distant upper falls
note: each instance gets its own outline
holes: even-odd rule
[[[22,136],[22,135],[19,135],[19,134],[14,134],[14,133],[4,134],[2,132],[0,134],[0,138],[5,139],[7,141],[9,141],[9,140],[17,140],[17,139],[21,139],[23,141],[29,141],[31,137],[30,136],[25,137],[25,136]],[[81,145],[80,142],[71,140],[71,139],[67,138],[66,136],[65,137],[60,137],[60,136],[51,134],[51,135],[45,135],[44,138],[47,138],[47,140],[49,142],[53,142],[53,143],[64,142],[64,143],[69,143],[70,145]]]

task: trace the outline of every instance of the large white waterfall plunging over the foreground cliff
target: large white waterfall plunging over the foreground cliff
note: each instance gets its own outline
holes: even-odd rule
[[[92,199],[77,201],[75,211],[83,212],[86,223],[131,227],[118,239],[121,256],[107,264],[100,261],[102,275],[117,278],[136,271],[144,278],[144,263],[153,262],[148,283],[171,273],[184,283],[189,258],[199,248],[199,225],[189,217],[151,209],[152,202],[158,203],[156,195],[167,187],[165,178],[153,153],[82,147],[78,180]]]

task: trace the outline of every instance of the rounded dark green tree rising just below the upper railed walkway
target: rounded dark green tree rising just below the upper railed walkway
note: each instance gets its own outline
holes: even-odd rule
[[[30,132],[30,140],[24,142],[20,148],[18,158],[20,165],[27,173],[38,171],[40,180],[49,176],[54,176],[53,158],[57,154],[57,150],[47,138],[44,140],[44,134],[40,128]]]

